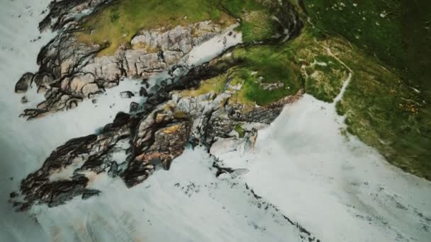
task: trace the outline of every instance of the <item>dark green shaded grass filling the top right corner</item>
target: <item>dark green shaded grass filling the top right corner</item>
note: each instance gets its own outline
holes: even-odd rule
[[[410,85],[431,88],[431,1],[306,0],[317,28],[376,56]]]

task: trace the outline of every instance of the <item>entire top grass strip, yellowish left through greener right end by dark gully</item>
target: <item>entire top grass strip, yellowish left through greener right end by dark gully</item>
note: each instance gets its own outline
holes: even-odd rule
[[[200,21],[214,21],[222,27],[239,18],[245,42],[272,38],[276,21],[269,7],[258,0],[122,0],[102,8],[82,21],[76,33],[85,43],[108,44],[99,55],[112,55],[128,44],[141,29],[173,28]]]

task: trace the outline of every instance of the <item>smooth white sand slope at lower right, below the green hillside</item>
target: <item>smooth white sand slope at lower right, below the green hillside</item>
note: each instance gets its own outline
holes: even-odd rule
[[[332,104],[304,96],[249,154],[220,154],[241,180],[323,241],[429,241],[431,183],[340,134]]]

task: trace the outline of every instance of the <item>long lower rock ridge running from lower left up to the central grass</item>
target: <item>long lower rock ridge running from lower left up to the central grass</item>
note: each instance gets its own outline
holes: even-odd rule
[[[216,144],[216,149],[228,142],[251,149],[257,129],[272,122],[286,103],[302,95],[301,91],[268,107],[246,109],[230,100],[232,92],[182,96],[174,91],[196,87],[201,79],[217,74],[208,63],[195,67],[179,81],[162,87],[140,113],[119,113],[99,134],[72,139],[58,147],[42,168],[22,181],[23,201],[15,206],[21,210],[33,204],[57,206],[76,196],[98,195],[99,191],[87,186],[92,175],[102,172],[119,175],[125,185],[133,187],[157,167],[169,169],[187,144],[208,149]],[[244,127],[242,137],[233,132],[237,125]],[[118,152],[123,159],[113,160]]]

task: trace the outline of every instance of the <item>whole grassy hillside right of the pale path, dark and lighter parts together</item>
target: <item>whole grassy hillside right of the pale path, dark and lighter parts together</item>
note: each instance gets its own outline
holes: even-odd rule
[[[349,132],[389,162],[430,179],[431,1],[304,2],[319,30],[366,53],[345,57],[354,76],[337,107]]]

